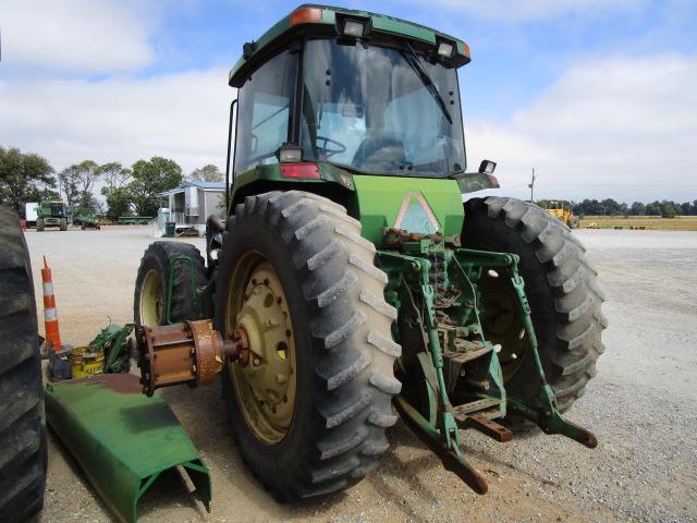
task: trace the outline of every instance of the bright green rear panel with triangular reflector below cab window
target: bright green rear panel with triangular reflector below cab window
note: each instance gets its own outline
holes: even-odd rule
[[[464,209],[455,180],[354,174],[363,235],[379,245],[381,228],[458,236]]]

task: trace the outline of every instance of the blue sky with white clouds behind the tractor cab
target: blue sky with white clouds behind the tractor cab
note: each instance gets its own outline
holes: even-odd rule
[[[227,71],[297,4],[0,0],[0,144],[57,169],[169,156],[222,166]],[[697,3],[418,0],[343,5],[469,44],[460,71],[470,167],[504,192],[697,199]],[[40,19],[35,13],[40,12]]]

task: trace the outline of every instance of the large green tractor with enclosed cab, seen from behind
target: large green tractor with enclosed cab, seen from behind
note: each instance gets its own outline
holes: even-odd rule
[[[403,20],[297,8],[230,72],[232,184],[206,258],[145,252],[144,391],[220,372],[240,452],[279,500],[359,482],[398,416],[480,494],[463,429],[597,445],[562,415],[603,351],[596,271],[543,209],[463,204],[499,185],[493,162],[466,169],[469,60]]]

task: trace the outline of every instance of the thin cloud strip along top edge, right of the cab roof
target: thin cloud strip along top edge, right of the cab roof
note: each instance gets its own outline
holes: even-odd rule
[[[430,2],[431,5],[433,2]],[[481,19],[500,22],[531,22],[562,16],[596,15],[635,10],[645,0],[436,0],[454,11],[465,11]]]

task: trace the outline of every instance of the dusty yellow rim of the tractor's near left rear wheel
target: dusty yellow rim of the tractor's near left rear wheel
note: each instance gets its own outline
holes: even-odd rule
[[[225,331],[242,328],[249,340],[248,357],[230,364],[237,404],[255,437],[278,445],[295,409],[295,342],[283,285],[261,254],[247,253],[235,267],[227,311]]]

